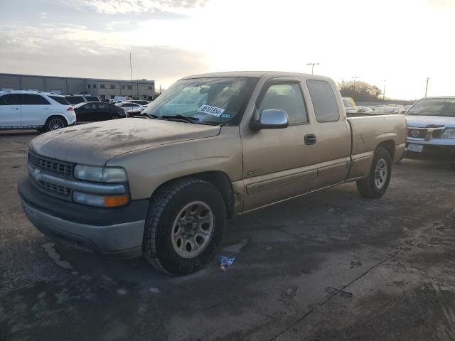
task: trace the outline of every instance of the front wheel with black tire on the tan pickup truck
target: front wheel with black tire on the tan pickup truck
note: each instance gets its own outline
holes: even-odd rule
[[[159,271],[191,274],[215,254],[225,222],[225,202],[215,186],[197,178],[177,180],[149,205],[142,254]]]

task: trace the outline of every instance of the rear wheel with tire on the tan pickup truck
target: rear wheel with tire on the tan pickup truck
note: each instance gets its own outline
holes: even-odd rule
[[[357,181],[357,190],[363,197],[378,199],[384,195],[392,175],[392,158],[387,149],[378,147],[375,151],[368,177]]]

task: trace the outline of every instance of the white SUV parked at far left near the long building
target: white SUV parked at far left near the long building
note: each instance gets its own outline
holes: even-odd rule
[[[74,108],[60,94],[0,92],[0,129],[50,131],[76,123]]]

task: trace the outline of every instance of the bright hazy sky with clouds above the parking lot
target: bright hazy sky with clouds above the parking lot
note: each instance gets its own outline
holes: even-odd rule
[[[0,0],[0,72],[168,87],[274,70],[455,95],[455,0]]]

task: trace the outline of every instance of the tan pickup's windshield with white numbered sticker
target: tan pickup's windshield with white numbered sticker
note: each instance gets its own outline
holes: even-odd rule
[[[238,124],[256,83],[250,77],[179,80],[144,110],[160,117],[191,117],[202,124]]]

